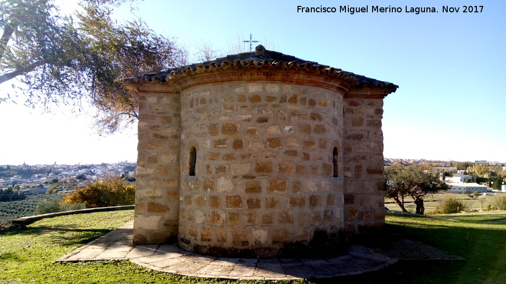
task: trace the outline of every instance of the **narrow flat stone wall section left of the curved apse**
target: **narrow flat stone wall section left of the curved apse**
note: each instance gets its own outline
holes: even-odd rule
[[[177,238],[180,124],[179,94],[139,95],[134,244]]]

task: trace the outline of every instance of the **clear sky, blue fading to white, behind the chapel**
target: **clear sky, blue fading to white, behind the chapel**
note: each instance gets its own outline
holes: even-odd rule
[[[226,54],[237,38],[248,39],[252,33],[267,49],[399,85],[385,99],[385,157],[506,162],[506,2],[468,2],[484,6],[482,13],[462,13],[461,3],[146,0],[133,13],[193,51],[209,42]],[[368,6],[369,12],[297,13],[297,6],[320,5],[338,11],[340,6]],[[372,6],[401,7],[402,12],[372,13]],[[438,13],[405,13],[405,6],[435,7]],[[459,12],[443,13],[443,6],[458,7]],[[133,19],[128,8],[115,15]],[[2,113],[10,108],[0,104]],[[136,159],[135,128],[99,140],[89,129],[90,117],[67,119],[15,109],[16,118],[2,126],[7,135],[0,164]]]

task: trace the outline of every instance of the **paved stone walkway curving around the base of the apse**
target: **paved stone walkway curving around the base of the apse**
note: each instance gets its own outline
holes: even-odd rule
[[[218,258],[174,245],[133,246],[133,221],[61,257],[57,261],[130,260],[150,269],[196,277],[300,279],[353,275],[382,269],[399,259],[463,260],[436,248],[394,236],[388,248],[351,246],[328,258],[258,260]]]

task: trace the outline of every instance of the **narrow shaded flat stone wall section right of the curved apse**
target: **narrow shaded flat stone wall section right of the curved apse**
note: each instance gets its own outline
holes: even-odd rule
[[[344,200],[347,232],[381,229],[383,193],[383,99],[344,99]]]

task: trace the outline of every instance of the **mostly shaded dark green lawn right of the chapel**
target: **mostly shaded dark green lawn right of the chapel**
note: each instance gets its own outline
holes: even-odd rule
[[[461,222],[403,218],[390,220],[386,230],[407,239],[419,241],[450,254],[465,258],[464,262],[445,261],[399,261],[377,273],[362,275],[364,283],[388,275],[385,283],[506,283],[506,224],[502,214],[487,216],[452,216]],[[493,225],[487,227],[486,225]],[[371,281],[367,277],[371,276]],[[346,282],[345,282],[346,283]]]

